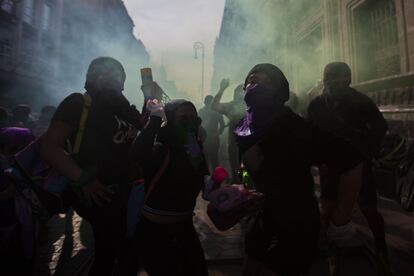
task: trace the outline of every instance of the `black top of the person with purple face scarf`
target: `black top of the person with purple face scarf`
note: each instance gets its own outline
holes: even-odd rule
[[[250,161],[246,160],[249,153]],[[242,153],[242,159],[257,189],[266,196],[265,210],[284,223],[319,220],[312,165],[329,164],[341,174],[356,166],[362,156],[346,141],[289,111],[272,123],[255,146]]]

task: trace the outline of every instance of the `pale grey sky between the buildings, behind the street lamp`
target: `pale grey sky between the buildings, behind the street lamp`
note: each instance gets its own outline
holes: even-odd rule
[[[211,93],[214,42],[220,31],[225,0],[124,2],[135,23],[134,34],[146,46],[151,63],[164,65],[167,77],[175,80],[178,90],[193,101],[201,99],[201,59],[194,59],[193,44],[204,43],[204,93]],[[212,90],[215,93],[217,88]]]

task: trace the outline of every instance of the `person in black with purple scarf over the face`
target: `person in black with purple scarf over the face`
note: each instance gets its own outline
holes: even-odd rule
[[[320,228],[311,166],[328,163],[342,173],[359,162],[356,150],[285,105],[289,82],[275,65],[254,66],[244,89],[247,113],[234,134],[241,161],[264,194],[246,233],[244,273],[306,274]]]

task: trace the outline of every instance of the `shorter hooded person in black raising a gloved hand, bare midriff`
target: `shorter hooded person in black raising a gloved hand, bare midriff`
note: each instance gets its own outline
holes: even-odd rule
[[[147,110],[149,122],[131,153],[145,174],[147,200],[137,233],[139,250],[145,252],[144,268],[149,275],[207,275],[192,220],[209,175],[198,139],[200,119],[194,105],[185,100],[165,107],[149,101]],[[167,123],[161,127],[163,117]]]

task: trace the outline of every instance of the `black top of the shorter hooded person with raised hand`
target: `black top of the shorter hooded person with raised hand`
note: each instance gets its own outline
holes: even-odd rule
[[[146,205],[161,211],[187,213],[194,209],[204,176],[209,172],[205,162],[194,168],[185,147],[176,139],[172,128],[168,125],[161,128],[161,118],[152,116],[135,140],[132,155],[143,166],[148,189],[169,152],[169,162]]]

